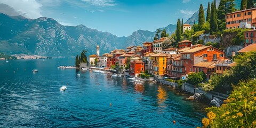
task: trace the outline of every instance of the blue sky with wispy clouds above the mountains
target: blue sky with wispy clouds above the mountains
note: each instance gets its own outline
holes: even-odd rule
[[[49,17],[62,25],[85,25],[116,36],[133,31],[155,31],[186,21],[209,0],[0,0],[19,14],[36,19]]]

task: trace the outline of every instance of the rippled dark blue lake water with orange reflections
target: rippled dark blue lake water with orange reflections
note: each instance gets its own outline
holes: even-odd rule
[[[182,100],[189,95],[166,85],[57,68],[74,64],[75,58],[1,60],[0,127],[202,126],[207,106]],[[66,91],[59,90],[62,85]]]

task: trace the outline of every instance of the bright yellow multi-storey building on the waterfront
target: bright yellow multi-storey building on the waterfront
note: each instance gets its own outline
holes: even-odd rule
[[[150,56],[153,60],[153,70],[155,75],[162,75],[166,73],[167,54],[157,53]]]

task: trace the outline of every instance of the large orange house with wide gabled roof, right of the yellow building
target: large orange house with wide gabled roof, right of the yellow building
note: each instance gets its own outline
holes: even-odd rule
[[[207,61],[207,62],[224,62],[223,51],[213,47],[213,46],[201,46],[195,47],[194,49],[186,50],[180,52],[181,61],[185,68],[185,73],[194,72],[193,66],[196,63]]]

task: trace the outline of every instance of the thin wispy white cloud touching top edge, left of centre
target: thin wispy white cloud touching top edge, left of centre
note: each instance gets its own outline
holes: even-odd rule
[[[116,6],[113,0],[82,0],[84,2],[90,3],[94,6]]]

